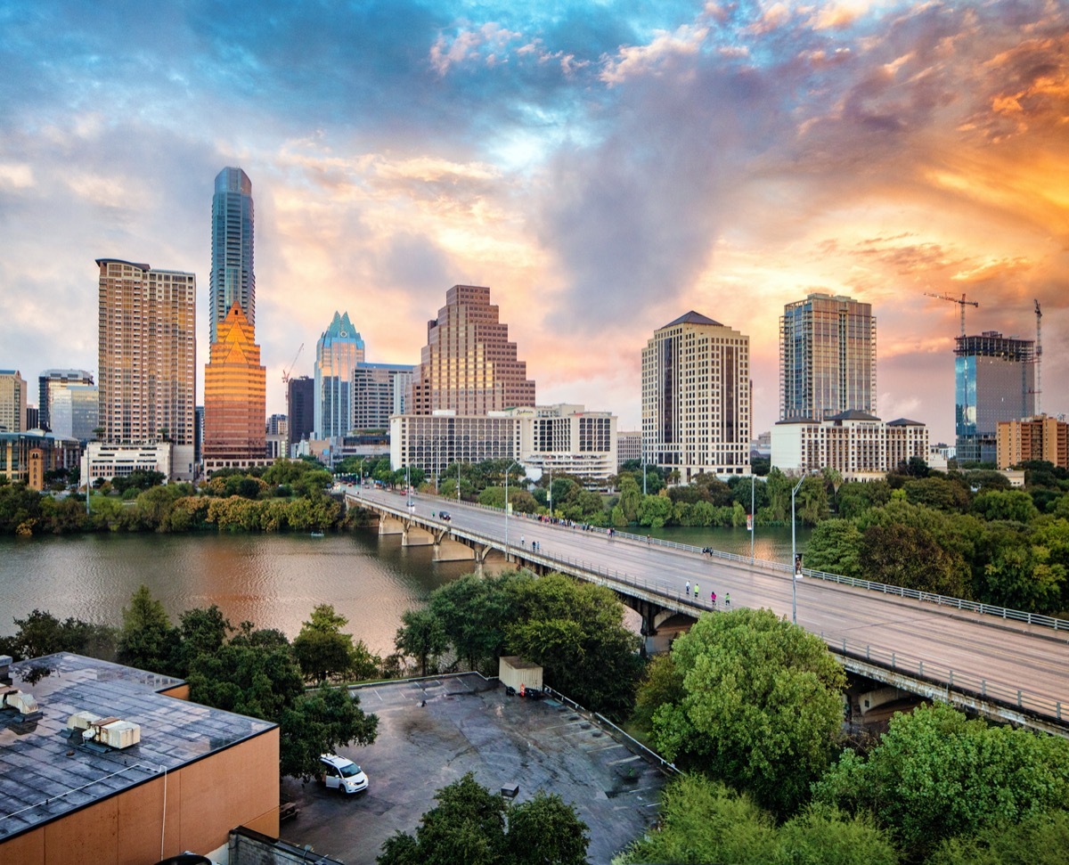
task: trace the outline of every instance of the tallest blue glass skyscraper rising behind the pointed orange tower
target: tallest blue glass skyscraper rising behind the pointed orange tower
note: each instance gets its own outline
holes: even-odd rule
[[[237,304],[250,325],[257,323],[257,277],[252,269],[252,181],[239,168],[215,177],[212,198],[211,341]]]

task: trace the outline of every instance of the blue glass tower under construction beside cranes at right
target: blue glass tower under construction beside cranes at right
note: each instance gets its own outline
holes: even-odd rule
[[[955,339],[958,465],[998,459],[998,421],[1036,413],[1036,343],[985,330]]]

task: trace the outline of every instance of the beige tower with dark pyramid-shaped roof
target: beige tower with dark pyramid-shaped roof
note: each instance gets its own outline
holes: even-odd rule
[[[749,337],[691,311],[642,350],[646,461],[690,483],[749,474]]]

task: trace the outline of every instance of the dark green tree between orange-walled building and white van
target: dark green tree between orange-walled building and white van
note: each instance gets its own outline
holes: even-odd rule
[[[279,758],[283,775],[308,781],[320,770],[320,755],[354,742],[370,745],[378,717],[360,709],[360,698],[343,688],[320,685],[300,694],[279,717]]]

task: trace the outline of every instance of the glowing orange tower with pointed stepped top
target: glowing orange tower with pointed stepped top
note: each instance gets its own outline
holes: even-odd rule
[[[235,300],[204,368],[204,472],[266,460],[267,370],[252,324]]]

